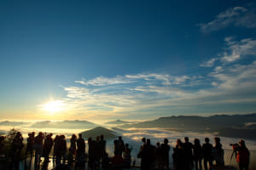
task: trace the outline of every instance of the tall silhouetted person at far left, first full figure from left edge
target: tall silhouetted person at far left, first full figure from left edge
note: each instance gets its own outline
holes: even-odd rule
[[[23,148],[23,137],[20,132],[16,133],[15,139],[11,144],[11,164],[10,169],[15,165],[15,169],[19,169],[20,153]]]

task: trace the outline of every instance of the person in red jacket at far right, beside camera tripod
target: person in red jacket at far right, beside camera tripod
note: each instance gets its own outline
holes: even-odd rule
[[[248,170],[250,161],[250,152],[246,147],[244,140],[239,141],[239,147],[237,147],[236,161],[238,162],[239,170]]]

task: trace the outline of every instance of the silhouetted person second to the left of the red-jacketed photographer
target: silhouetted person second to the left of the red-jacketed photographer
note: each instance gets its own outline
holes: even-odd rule
[[[212,167],[212,144],[210,144],[210,139],[205,138],[206,143],[202,145],[204,167],[207,170],[207,163],[209,162],[209,167]]]

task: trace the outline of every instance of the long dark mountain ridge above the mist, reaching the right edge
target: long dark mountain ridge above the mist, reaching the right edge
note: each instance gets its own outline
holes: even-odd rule
[[[167,116],[153,121],[125,124],[121,128],[166,128],[177,131],[200,133],[218,133],[220,136],[242,139],[256,139],[256,128],[246,126],[256,122],[256,113],[248,115],[215,115],[215,116]]]

